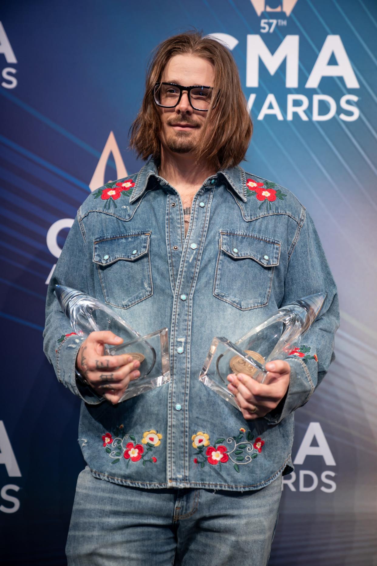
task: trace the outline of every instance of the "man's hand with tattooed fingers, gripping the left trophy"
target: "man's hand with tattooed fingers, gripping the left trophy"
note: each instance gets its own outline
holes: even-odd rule
[[[97,395],[112,404],[118,403],[128,387],[129,381],[137,379],[140,362],[132,356],[103,355],[104,344],[119,345],[123,339],[113,332],[91,332],[81,344],[76,357],[76,368]]]

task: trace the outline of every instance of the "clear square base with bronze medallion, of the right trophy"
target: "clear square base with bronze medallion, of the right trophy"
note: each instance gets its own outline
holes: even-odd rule
[[[241,410],[235,396],[227,387],[230,383],[227,376],[242,373],[263,383],[267,375],[264,362],[264,358],[257,352],[250,350],[246,353],[227,338],[216,336],[211,342],[199,380],[233,407]]]

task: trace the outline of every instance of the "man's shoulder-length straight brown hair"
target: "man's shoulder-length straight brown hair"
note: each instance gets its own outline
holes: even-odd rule
[[[215,69],[213,96],[203,125],[203,135],[195,151],[197,160],[199,156],[208,160],[216,170],[238,165],[245,158],[253,133],[239,71],[226,46],[198,31],[168,37],[154,50],[146,74],[142,105],[130,128],[130,147],[144,160],[153,156],[159,161],[161,144],[158,133],[161,120],[153,89],[155,83],[161,80],[168,60],[184,53],[206,59]]]

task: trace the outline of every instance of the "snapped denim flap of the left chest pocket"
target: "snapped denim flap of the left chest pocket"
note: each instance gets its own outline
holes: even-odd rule
[[[128,232],[96,238],[93,246],[93,261],[99,265],[110,265],[123,259],[135,261],[149,250],[150,232]]]

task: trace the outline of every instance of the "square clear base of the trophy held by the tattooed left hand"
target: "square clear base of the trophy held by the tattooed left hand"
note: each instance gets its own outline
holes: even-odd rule
[[[140,376],[129,381],[119,402],[126,401],[170,382],[168,331],[161,328],[119,346],[105,345],[107,355],[128,354],[140,362]]]

